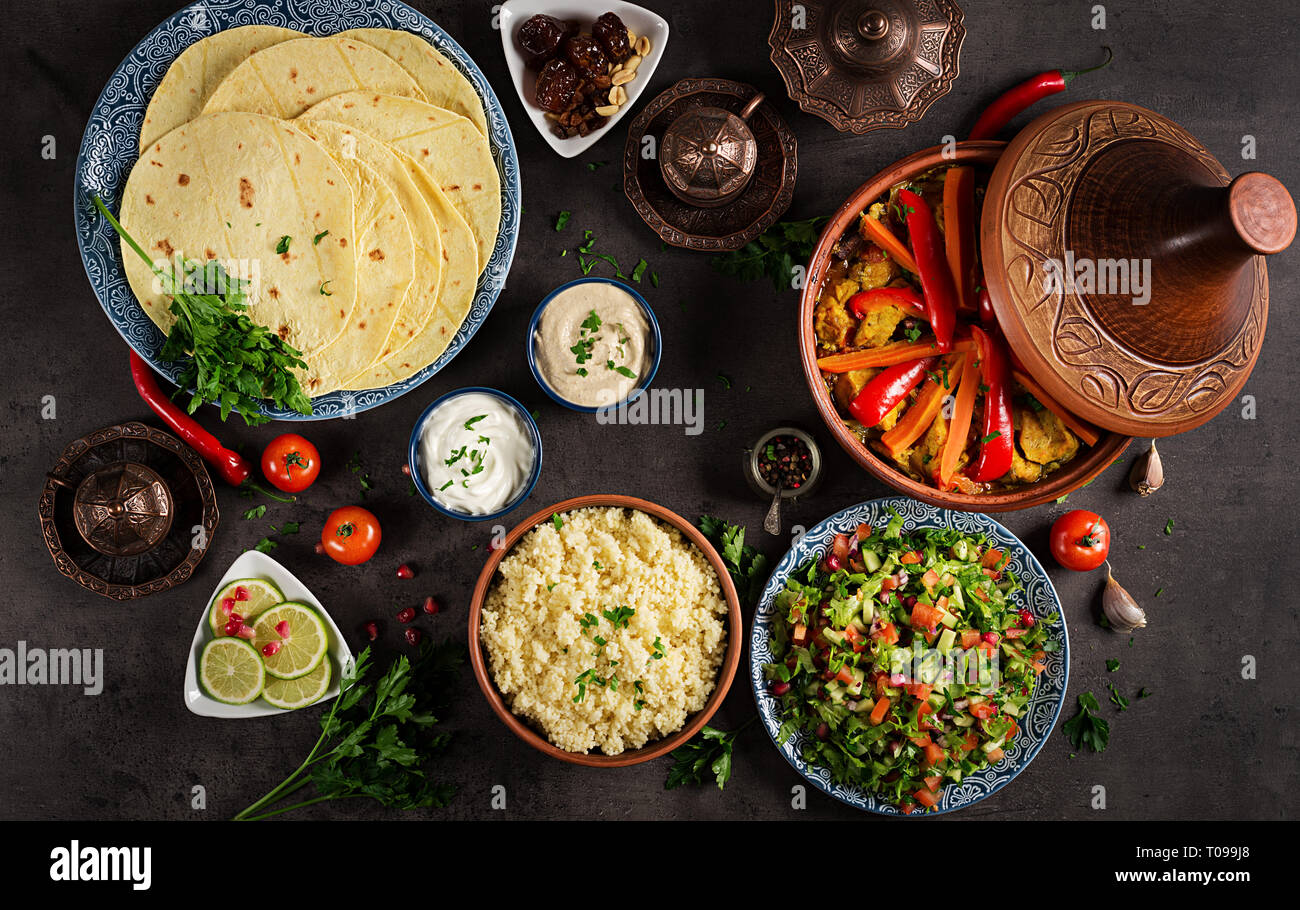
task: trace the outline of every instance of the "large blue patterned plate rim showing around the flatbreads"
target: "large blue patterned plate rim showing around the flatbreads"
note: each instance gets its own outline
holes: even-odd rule
[[[433,364],[402,382],[384,389],[335,391],[313,398],[313,413],[309,417],[276,408],[264,408],[263,413],[276,420],[322,420],[368,411],[411,391],[446,367],[469,343],[506,285],[506,273],[515,257],[523,207],[515,139],[495,92],[469,55],[447,32],[406,4],[398,0],[200,0],[146,35],[109,77],[91,112],[77,155],[73,209],[82,263],[100,306],[126,343],[155,370],[176,382],[181,365],[159,358],[165,338],[144,315],[126,283],[117,234],[95,212],[90,198],[99,194],[109,211],[120,209],[122,188],[138,157],[144,109],[162,74],[182,51],[200,38],[240,25],[278,25],[308,35],[333,35],[347,29],[399,29],[415,32],[429,40],[465,74],[488,114],[491,155],[500,172],[500,233],[488,268],[478,278],[469,316],[462,322],[447,350]]]

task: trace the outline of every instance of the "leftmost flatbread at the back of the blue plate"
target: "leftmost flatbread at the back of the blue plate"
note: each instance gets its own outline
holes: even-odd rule
[[[140,127],[140,153],[155,139],[202,114],[212,90],[239,64],[257,51],[294,38],[306,35],[274,25],[243,25],[187,47],[153,90]]]

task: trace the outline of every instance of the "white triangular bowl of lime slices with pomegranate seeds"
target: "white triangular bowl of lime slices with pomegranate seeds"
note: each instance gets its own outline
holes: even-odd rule
[[[231,615],[238,616],[233,623]],[[204,604],[185,671],[185,706],[205,718],[239,719],[320,705],[338,696],[351,660],[343,634],[311,590],[250,550]]]

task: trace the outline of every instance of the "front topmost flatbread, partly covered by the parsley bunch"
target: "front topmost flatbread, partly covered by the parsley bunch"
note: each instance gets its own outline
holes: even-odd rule
[[[309,358],[342,334],[356,306],[354,208],[346,174],[291,124],[218,113],[150,144],[120,220],[155,261],[218,260],[250,280],[248,317]],[[283,237],[289,250],[277,254]],[[168,332],[169,298],[125,242],[122,257],[144,312]],[[330,296],[320,292],[325,282]]]

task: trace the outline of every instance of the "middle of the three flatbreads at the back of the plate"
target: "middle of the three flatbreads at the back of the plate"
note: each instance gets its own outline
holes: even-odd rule
[[[248,110],[292,120],[350,91],[424,99],[415,79],[382,51],[350,38],[296,38],[259,51],[212,91],[203,113]]]

